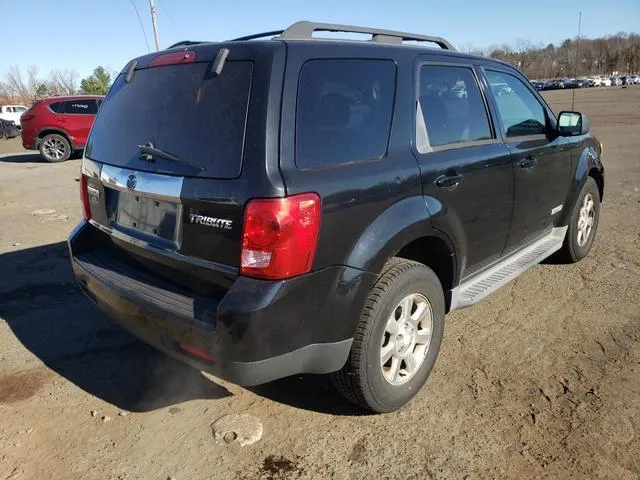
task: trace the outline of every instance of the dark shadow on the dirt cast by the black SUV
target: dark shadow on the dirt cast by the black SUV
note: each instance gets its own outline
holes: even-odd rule
[[[0,318],[47,367],[89,394],[134,412],[231,395],[102,314],[76,285],[65,242],[4,253],[0,265]],[[365,413],[322,375],[293,376],[249,390],[303,410]]]

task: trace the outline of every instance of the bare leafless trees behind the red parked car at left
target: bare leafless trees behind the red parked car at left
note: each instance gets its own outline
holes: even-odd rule
[[[115,74],[102,66],[83,79],[80,79],[78,72],[68,68],[52,70],[47,77],[42,77],[35,65],[28,67],[25,72],[13,66],[0,79],[0,103],[28,105],[43,97],[104,95],[114,78]]]

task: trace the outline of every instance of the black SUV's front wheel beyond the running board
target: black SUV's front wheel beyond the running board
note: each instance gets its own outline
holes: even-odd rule
[[[586,257],[593,246],[599,219],[600,191],[596,181],[587,177],[571,211],[567,235],[556,259],[564,263],[575,263]]]

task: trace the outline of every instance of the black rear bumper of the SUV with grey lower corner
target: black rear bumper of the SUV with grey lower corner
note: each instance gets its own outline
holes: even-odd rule
[[[74,273],[89,298],[144,342],[239,385],[339,370],[376,278],[349,267],[281,281],[238,277],[222,298],[202,298],[87,250],[90,229],[83,222],[69,238]]]

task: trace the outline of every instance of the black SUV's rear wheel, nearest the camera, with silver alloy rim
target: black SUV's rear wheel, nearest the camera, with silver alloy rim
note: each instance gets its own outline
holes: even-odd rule
[[[347,399],[377,413],[405,405],[424,385],[444,331],[444,294],[426,266],[393,258],[369,294],[342,370]]]

